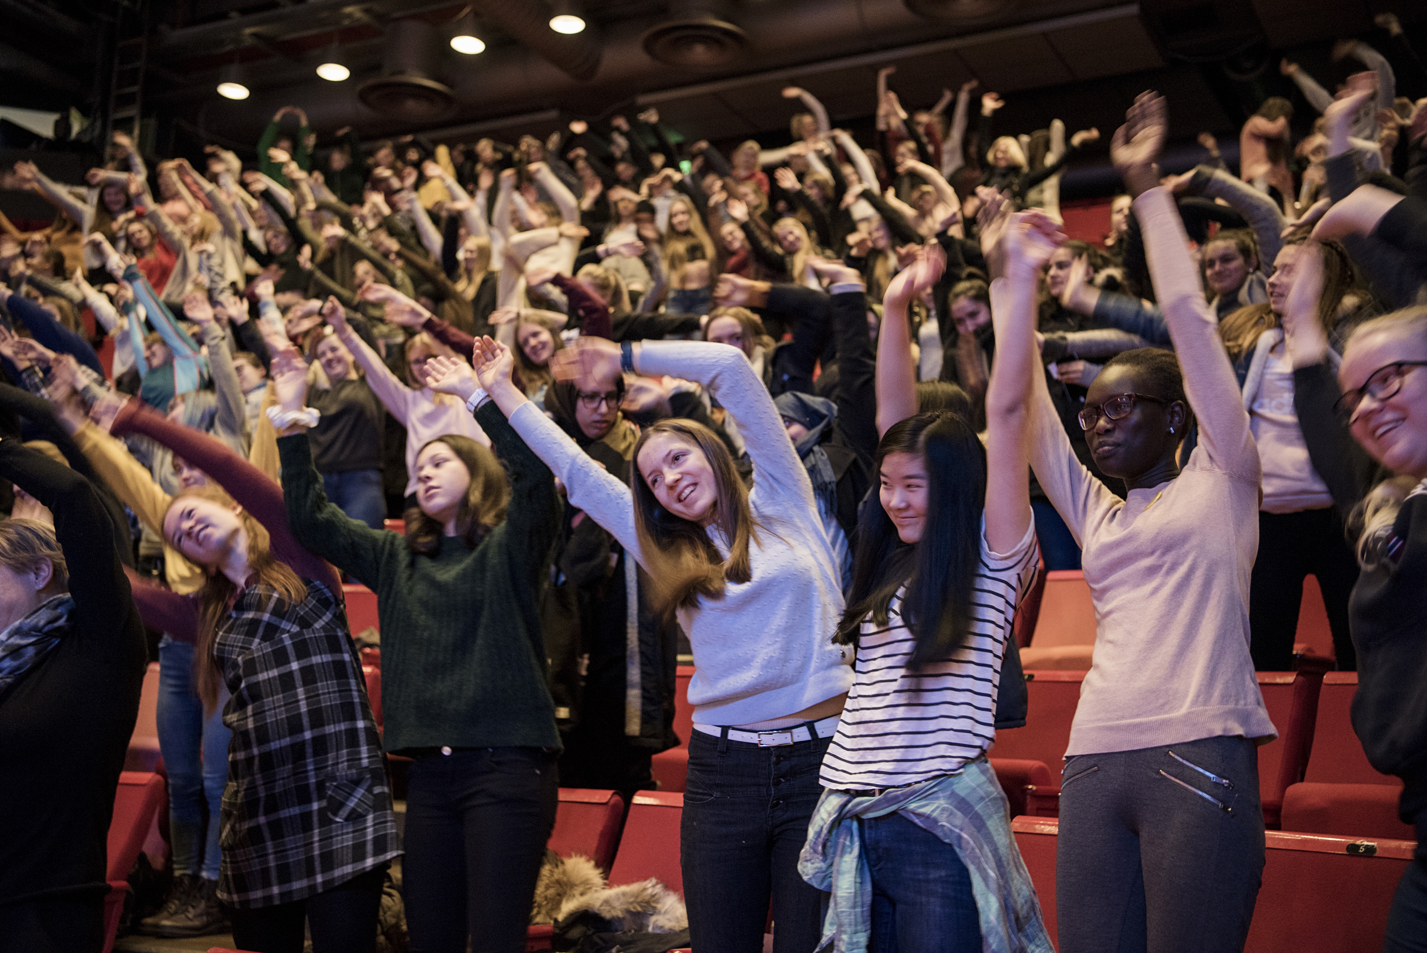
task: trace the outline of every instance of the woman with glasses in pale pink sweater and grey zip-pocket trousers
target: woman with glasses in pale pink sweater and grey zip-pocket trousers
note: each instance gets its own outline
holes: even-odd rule
[[[1032,467],[1080,541],[1097,619],[1060,782],[1060,953],[1243,949],[1264,863],[1256,746],[1276,732],[1249,656],[1259,451],[1173,195],[1157,185],[1164,133],[1163,100],[1142,94],[1110,156],[1136,195],[1179,360],[1119,354],[1079,414],[1126,499],[1076,459],[1033,382]],[[1199,445],[1182,469],[1192,414]]]

